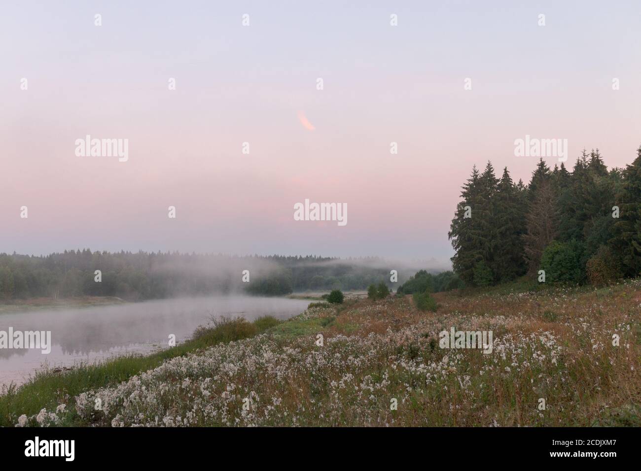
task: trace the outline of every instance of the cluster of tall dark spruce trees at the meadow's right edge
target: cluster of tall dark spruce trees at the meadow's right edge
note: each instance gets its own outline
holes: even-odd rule
[[[488,286],[529,274],[546,283],[612,283],[641,274],[641,147],[626,169],[599,150],[570,172],[540,159],[528,185],[488,161],[463,185],[449,238],[456,274]]]

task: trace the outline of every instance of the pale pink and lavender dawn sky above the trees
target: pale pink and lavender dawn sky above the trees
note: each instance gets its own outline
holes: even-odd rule
[[[449,263],[472,165],[529,181],[538,157],[515,156],[516,139],[567,139],[570,167],[584,147],[608,167],[634,160],[640,13],[638,1],[3,1],[0,252]],[[78,156],[87,135],[128,140],[127,160]],[[345,204],[347,224],[295,220],[305,199]]]

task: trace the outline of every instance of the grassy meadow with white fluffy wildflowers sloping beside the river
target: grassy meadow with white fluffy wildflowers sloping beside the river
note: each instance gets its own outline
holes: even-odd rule
[[[0,396],[0,425],[641,426],[641,280],[434,298],[215,319],[151,356],[43,371]],[[492,352],[440,348],[451,327],[492,331]]]

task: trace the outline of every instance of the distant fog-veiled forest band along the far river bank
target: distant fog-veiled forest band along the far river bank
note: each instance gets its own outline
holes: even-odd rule
[[[92,295],[128,300],[247,292],[283,295],[306,290],[364,290],[372,283],[393,287],[390,268],[377,258],[317,256],[227,256],[178,252],[71,250],[47,256],[0,254],[0,299],[54,299]],[[102,281],[95,280],[101,270]],[[249,283],[242,282],[249,270]],[[400,271],[400,270],[399,270]]]

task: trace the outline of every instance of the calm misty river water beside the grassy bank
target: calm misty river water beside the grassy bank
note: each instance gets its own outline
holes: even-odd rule
[[[24,383],[43,363],[70,367],[127,352],[148,353],[167,348],[169,335],[187,340],[210,316],[263,315],[289,318],[309,301],[276,297],[219,295],[165,299],[68,310],[36,310],[0,315],[0,331],[51,331],[51,352],[0,349],[0,384]]]

